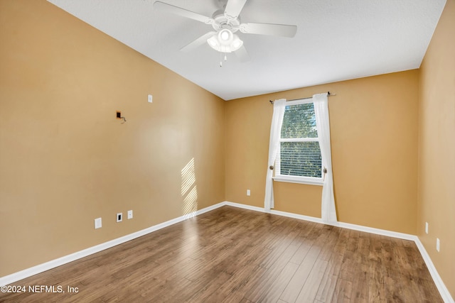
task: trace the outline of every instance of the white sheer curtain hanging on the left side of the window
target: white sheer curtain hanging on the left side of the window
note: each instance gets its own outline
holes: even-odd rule
[[[270,211],[274,208],[273,199],[273,166],[279,150],[280,131],[284,117],[284,109],[286,108],[286,99],[279,99],[273,102],[272,126],[270,126],[270,141],[269,141],[269,161],[267,166],[267,178],[265,180],[265,199],[264,209]]]

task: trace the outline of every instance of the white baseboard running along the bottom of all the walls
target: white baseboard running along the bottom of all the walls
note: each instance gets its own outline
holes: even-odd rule
[[[144,236],[148,233],[158,231],[161,228],[171,226],[173,224],[184,221],[193,216],[198,216],[200,214],[204,214],[208,211],[212,211],[213,209],[218,209],[219,207],[225,206],[225,205],[234,206],[234,207],[238,207],[238,208],[242,208],[242,209],[250,209],[252,211],[260,211],[260,212],[264,212],[264,213],[267,212],[267,211],[265,211],[265,209],[263,207],[239,204],[239,203],[228,202],[228,201],[220,202],[218,204],[208,206],[205,209],[199,209],[198,211],[194,211],[191,214],[179,216],[176,219],[171,219],[171,220],[163,222],[161,224],[157,224],[157,225],[151,226],[149,228],[145,228],[141,231],[137,231],[135,233],[130,233],[127,236],[122,236],[122,237],[116,238],[112,241],[107,241],[107,242],[101,243],[97,246],[92,246],[91,248],[87,248],[85,250],[80,250],[76,253],[72,253],[70,255],[65,255],[62,258],[51,260],[49,262],[33,266],[32,268],[27,268],[26,270],[21,270],[19,272],[13,273],[11,275],[6,275],[4,277],[0,277],[0,286],[9,285],[18,280],[25,279],[26,277],[31,277],[32,275],[36,275],[40,272],[44,272],[45,270],[50,270],[50,269],[56,268],[60,265],[73,262],[80,258],[84,258],[87,255],[92,255],[93,253],[98,253],[101,250],[105,250],[107,248],[112,248],[114,246],[125,243],[127,241],[131,241],[134,238],[139,238],[140,236]],[[278,216],[287,216],[289,218],[300,219],[300,220],[304,220],[304,221],[311,221],[311,222],[316,222],[319,224],[327,224],[327,223],[323,222],[321,218],[316,218],[313,216],[304,216],[301,214],[292,214],[292,213],[289,213],[286,211],[277,211],[277,210],[272,209],[269,212],[269,214],[276,214]],[[367,233],[375,233],[375,234],[382,235],[382,236],[390,236],[392,238],[400,238],[400,239],[404,239],[404,240],[414,241],[417,245],[417,248],[419,248],[420,253],[422,254],[422,258],[424,259],[424,261],[427,265],[430,275],[432,275],[434,283],[436,284],[436,286],[439,290],[439,293],[441,294],[442,299],[444,299],[445,303],[455,303],[454,299],[451,297],[451,294],[450,294],[449,290],[447,289],[446,285],[444,285],[444,282],[441,280],[441,276],[439,276],[439,273],[437,272],[436,268],[434,267],[432,259],[429,258],[427,250],[425,250],[424,246],[422,245],[422,242],[420,242],[420,240],[417,236],[410,235],[407,233],[397,233],[396,231],[386,231],[384,229],[372,228],[372,227],[368,227],[368,226],[360,226],[360,225],[343,223],[343,222],[336,222],[335,224],[328,224],[328,225],[353,229],[355,231],[364,231]]]

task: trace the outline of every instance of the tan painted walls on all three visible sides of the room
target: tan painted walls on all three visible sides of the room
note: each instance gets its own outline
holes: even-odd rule
[[[338,219],[417,232],[455,297],[454,20],[448,0],[421,72],[224,102],[46,1],[0,1],[0,277],[181,216],[191,189],[198,209],[263,206],[268,100],[331,91]],[[321,187],[274,189],[275,209],[321,216]]]

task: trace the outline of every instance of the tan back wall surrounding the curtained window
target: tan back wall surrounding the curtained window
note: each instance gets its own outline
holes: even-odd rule
[[[338,220],[415,234],[418,77],[411,70],[228,101],[226,199],[264,206],[269,100],[330,91]],[[321,217],[321,188],[274,182],[275,209]]]

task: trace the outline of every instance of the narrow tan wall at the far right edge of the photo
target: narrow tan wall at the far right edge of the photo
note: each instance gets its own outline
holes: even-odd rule
[[[420,73],[417,235],[455,298],[455,0],[446,2]]]

